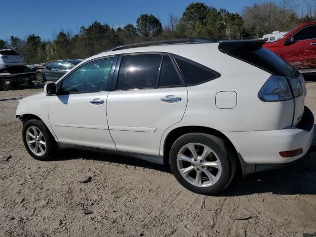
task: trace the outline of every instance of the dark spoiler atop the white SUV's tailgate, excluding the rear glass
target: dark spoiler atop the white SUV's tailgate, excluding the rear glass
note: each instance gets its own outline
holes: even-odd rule
[[[218,49],[227,53],[228,55],[234,54],[236,51],[254,51],[262,47],[266,40],[227,40],[222,41],[218,45]]]

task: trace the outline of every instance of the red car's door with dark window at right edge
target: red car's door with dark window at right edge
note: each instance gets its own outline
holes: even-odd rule
[[[316,25],[305,27],[293,36],[295,42],[284,45],[280,57],[302,69],[316,68]]]

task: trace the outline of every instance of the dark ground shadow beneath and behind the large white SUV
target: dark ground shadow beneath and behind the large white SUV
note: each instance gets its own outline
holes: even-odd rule
[[[316,129],[316,125],[315,129]],[[251,174],[242,178],[240,170],[220,197],[245,196],[260,193],[276,195],[316,195],[316,133],[314,144],[308,153],[298,162],[275,170]],[[53,160],[86,159],[99,162],[109,162],[128,166],[154,169],[170,173],[164,165],[150,163],[144,160],[110,155],[104,153],[81,151],[76,149],[62,150]]]

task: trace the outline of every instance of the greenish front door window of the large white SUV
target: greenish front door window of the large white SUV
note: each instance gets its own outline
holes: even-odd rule
[[[61,94],[106,91],[114,57],[89,62],[63,80]]]

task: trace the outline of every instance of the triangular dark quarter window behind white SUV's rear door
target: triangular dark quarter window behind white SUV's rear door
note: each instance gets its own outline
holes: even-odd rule
[[[196,85],[219,78],[221,75],[189,59],[175,56],[174,59],[187,85]]]

